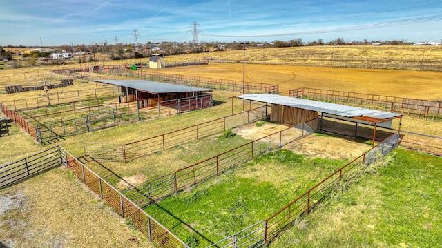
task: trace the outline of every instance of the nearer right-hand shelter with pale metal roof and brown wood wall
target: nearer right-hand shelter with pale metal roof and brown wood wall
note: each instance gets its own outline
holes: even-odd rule
[[[392,129],[392,121],[395,118],[399,118],[400,122],[402,120],[402,114],[276,94],[246,94],[237,98],[265,103],[266,106],[271,104],[270,121],[288,123],[289,126],[306,123],[315,131],[322,131],[323,119],[334,119],[338,122],[354,123],[354,136],[356,137],[358,124],[371,125],[374,127],[373,144],[376,138],[376,126]],[[400,130],[401,123],[398,127]]]

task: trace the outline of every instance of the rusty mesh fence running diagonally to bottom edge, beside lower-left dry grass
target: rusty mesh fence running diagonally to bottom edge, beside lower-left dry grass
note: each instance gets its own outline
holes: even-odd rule
[[[172,234],[169,229],[157,222],[152,216],[146,214],[140,207],[119,192],[110,183],[95,174],[84,163],[60,147],[63,163],[75,176],[86,184],[95,194],[106,201],[120,216],[126,218],[131,224],[148,237],[158,247],[186,247],[185,242]]]

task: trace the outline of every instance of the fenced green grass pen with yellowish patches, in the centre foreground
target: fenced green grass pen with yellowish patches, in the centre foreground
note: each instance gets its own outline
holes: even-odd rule
[[[194,237],[200,240],[195,247],[206,247],[269,218],[345,163],[270,152],[146,211],[182,240]]]

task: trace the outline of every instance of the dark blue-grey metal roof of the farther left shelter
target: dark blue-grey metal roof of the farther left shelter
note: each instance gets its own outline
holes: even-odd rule
[[[109,83],[112,85],[119,85],[124,87],[129,87],[137,90],[142,90],[144,92],[152,93],[179,93],[179,92],[203,92],[203,91],[213,91],[210,89],[200,88],[200,87],[190,87],[184,85],[174,85],[171,83],[159,83],[147,80],[95,80],[99,83]]]

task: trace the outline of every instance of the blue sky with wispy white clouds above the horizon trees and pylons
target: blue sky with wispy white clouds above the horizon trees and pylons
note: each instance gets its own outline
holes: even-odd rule
[[[0,45],[442,40],[442,1],[1,0]],[[41,37],[41,39],[40,39]]]

